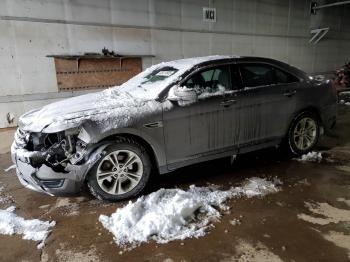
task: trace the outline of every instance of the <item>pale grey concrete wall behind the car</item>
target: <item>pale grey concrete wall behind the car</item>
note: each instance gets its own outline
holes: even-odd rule
[[[153,54],[160,61],[209,54],[272,57],[312,73],[350,57],[349,7],[309,14],[307,0],[0,0],[0,128],[24,111],[76,95],[57,92],[49,54]],[[202,7],[217,22],[202,21]],[[310,29],[330,27],[310,45]],[[79,93],[79,92],[78,92]],[[15,115],[8,124],[6,114]]]

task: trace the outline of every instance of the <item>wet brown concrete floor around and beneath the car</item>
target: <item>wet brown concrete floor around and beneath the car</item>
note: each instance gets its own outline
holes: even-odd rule
[[[233,199],[209,234],[168,244],[150,242],[127,252],[98,222],[125,203],[103,203],[87,193],[58,198],[24,189],[12,170],[0,172],[4,195],[26,218],[56,220],[42,251],[20,236],[0,235],[1,261],[349,261],[350,260],[350,106],[341,106],[335,134],[323,137],[321,163],[300,163],[274,149],[212,161],[155,179],[160,187],[207,182],[228,188],[247,177],[274,177],[282,191],[257,199]],[[0,170],[11,165],[0,155]],[[11,199],[5,208],[11,205]],[[231,225],[230,220],[241,220]]]

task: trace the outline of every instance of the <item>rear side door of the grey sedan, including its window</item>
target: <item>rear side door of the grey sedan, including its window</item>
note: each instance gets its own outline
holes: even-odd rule
[[[280,83],[283,71],[271,64],[240,63],[239,71],[240,147],[280,139],[295,109],[294,86]]]

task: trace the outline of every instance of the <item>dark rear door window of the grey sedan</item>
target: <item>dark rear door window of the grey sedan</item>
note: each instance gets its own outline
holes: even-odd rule
[[[274,83],[274,71],[269,65],[242,64],[240,72],[245,87],[266,86]]]

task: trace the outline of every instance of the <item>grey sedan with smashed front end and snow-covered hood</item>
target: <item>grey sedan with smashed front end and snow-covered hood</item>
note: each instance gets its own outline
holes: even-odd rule
[[[117,201],[194,163],[278,145],[305,154],[335,122],[327,80],[267,58],[188,58],[22,115],[11,153],[29,189],[63,195],[87,184]]]

